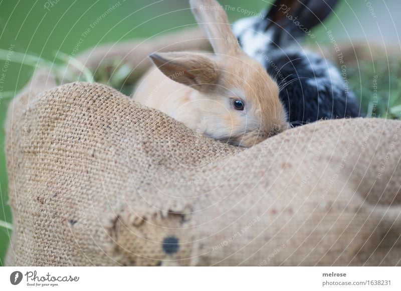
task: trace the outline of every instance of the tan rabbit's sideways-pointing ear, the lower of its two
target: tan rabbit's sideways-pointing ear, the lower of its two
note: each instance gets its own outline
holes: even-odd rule
[[[159,70],[171,80],[197,90],[207,90],[218,78],[217,63],[206,54],[160,52],[149,55]]]

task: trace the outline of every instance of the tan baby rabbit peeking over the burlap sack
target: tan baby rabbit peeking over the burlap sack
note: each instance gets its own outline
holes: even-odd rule
[[[153,67],[138,82],[134,99],[159,109],[207,136],[249,147],[287,128],[279,87],[245,54],[215,0],[190,0],[210,52],[150,55]]]

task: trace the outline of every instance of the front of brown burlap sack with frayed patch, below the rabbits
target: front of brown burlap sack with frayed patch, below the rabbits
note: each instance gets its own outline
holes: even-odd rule
[[[8,265],[401,265],[400,121],[244,149],[106,85],[55,84],[37,72],[9,110]]]

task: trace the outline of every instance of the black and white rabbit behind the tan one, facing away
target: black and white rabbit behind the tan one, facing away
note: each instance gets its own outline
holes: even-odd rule
[[[293,126],[319,119],[362,116],[338,68],[300,45],[337,0],[276,0],[263,17],[233,24],[243,50],[257,59],[280,86],[280,100]]]

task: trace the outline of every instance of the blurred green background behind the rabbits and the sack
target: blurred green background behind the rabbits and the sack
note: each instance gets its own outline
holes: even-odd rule
[[[258,12],[269,4],[265,0],[221,0],[223,5],[241,7]],[[193,23],[186,0],[3,0],[0,1],[0,69],[4,68],[7,51],[39,56],[51,62],[58,51],[71,54],[81,34],[98,17],[117,4],[106,17],[91,29],[79,51],[101,43],[118,42],[139,37],[151,36],[166,29]],[[330,29],[338,43],[386,44],[398,49],[400,41],[398,30],[401,28],[399,1],[341,1],[335,13],[314,29],[317,35],[309,39],[312,46],[325,45],[332,49],[330,39],[325,33]],[[234,21],[245,15],[237,9],[228,11]],[[177,28],[179,29],[179,27]],[[399,57],[373,55],[373,60],[361,60],[348,66],[351,88],[362,99],[362,110],[369,112],[372,96],[372,75],[379,74],[378,93],[380,101],[379,116],[396,118],[399,116],[401,75]],[[8,205],[8,180],[4,154],[4,120],[7,108],[16,93],[32,75],[34,68],[17,61],[16,53],[7,66],[4,83],[0,83],[0,265],[9,244],[11,230],[4,227],[12,223]],[[391,112],[390,112],[391,111]],[[3,225],[3,226],[2,226]]]

